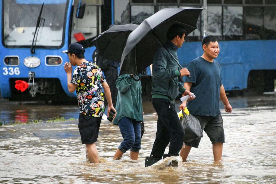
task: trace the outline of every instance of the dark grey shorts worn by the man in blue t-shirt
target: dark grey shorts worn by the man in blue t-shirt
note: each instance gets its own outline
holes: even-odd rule
[[[218,114],[216,117],[196,115],[194,115],[194,117],[199,120],[202,131],[204,130],[206,132],[212,144],[224,143],[224,129],[221,114]],[[200,140],[201,137],[185,144],[194,148],[198,148]]]

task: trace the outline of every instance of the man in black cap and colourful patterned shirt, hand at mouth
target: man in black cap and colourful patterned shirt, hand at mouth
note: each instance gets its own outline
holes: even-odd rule
[[[94,63],[84,58],[84,48],[81,44],[71,44],[67,53],[69,63],[64,64],[67,74],[67,85],[70,93],[77,91],[79,102],[79,132],[82,144],[86,145],[91,163],[99,163],[98,151],[95,142],[98,138],[102,115],[104,114],[104,97],[108,102],[107,116],[113,107],[109,86],[105,80],[102,70]],[[76,66],[72,78],[72,66]],[[113,116],[115,118],[116,114]]]

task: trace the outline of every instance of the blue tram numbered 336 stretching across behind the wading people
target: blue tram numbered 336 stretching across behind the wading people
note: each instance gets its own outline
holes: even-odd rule
[[[59,101],[76,96],[63,71],[68,59],[61,51],[69,44],[82,44],[92,61],[91,41],[109,25],[140,24],[162,8],[202,7],[203,0],[0,0],[0,6],[2,98]],[[207,34],[219,38],[225,90],[274,91],[276,1],[208,0],[206,13]],[[178,49],[183,67],[202,55],[203,16],[197,27]],[[151,79],[142,80],[149,94]]]

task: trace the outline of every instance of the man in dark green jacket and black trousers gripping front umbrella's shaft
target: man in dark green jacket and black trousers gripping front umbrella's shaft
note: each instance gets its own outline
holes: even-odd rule
[[[181,47],[186,34],[182,25],[171,25],[167,31],[167,42],[164,47],[178,59],[176,50]],[[178,64],[163,46],[160,47],[153,58],[152,71],[152,105],[158,115],[156,138],[153,144],[151,155],[146,157],[145,167],[151,166],[160,159],[167,156],[178,156],[184,141],[184,128],[176,113],[174,101],[179,92],[190,95],[178,77],[190,75],[187,68],[179,70]],[[182,106],[179,106],[182,109]],[[167,145],[170,143],[169,153],[164,154]],[[164,154],[164,155],[163,155]],[[177,162],[172,164],[177,166]]]

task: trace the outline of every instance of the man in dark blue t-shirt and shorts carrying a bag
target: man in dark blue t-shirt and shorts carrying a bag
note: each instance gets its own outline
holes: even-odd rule
[[[219,99],[224,103],[225,112],[231,113],[232,107],[228,102],[224,87],[221,83],[220,64],[215,60],[220,48],[215,36],[206,36],[202,40],[204,53],[188,65],[191,78],[185,79],[184,87],[192,91],[196,98],[182,103],[196,117],[213,144],[215,162],[220,161],[224,143],[223,120],[219,109]],[[183,95],[182,95],[183,96]],[[187,103],[187,104],[186,104]],[[198,148],[201,138],[185,143],[180,156],[186,162],[192,147]]]

